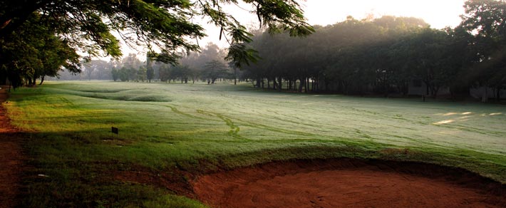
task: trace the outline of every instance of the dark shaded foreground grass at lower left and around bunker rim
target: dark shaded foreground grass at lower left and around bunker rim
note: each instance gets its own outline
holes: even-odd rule
[[[123,128],[133,126],[124,125]],[[315,144],[272,147],[241,153],[224,152],[214,156],[192,153],[186,157],[169,155],[150,158],[158,157],[160,152],[176,151],[178,147],[167,145],[171,149],[149,150],[149,147],[160,145],[160,140],[153,142],[147,138],[117,138],[110,135],[105,128],[69,132],[24,132],[20,135],[23,137],[24,151],[30,158],[26,163],[29,168],[23,176],[21,207],[149,207],[146,204],[167,204],[167,200],[175,200],[174,207],[202,207],[202,204],[194,200],[197,197],[191,184],[200,175],[266,162],[325,163],[327,160],[341,160],[335,158],[356,158],[344,160],[393,166],[396,171],[414,175],[448,177],[457,183],[469,183],[470,187],[491,194],[506,193],[505,185],[500,182],[455,168],[465,164],[470,165],[465,166],[470,170],[492,171],[492,174],[505,177],[506,167],[483,165],[474,160],[466,161],[455,156],[458,152],[448,155],[448,152],[422,152],[390,148],[386,145],[343,142],[339,147]],[[161,142],[169,143],[170,139]],[[149,145],[144,145],[146,143]],[[222,145],[227,147],[237,143],[224,141]],[[153,167],[150,161],[155,160],[164,160],[164,167]],[[475,166],[478,165],[488,169],[477,169]],[[460,180],[460,177],[464,176],[465,180]]]

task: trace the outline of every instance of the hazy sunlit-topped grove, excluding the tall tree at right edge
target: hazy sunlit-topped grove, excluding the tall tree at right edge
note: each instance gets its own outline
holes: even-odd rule
[[[348,16],[341,23],[315,28],[316,33],[305,39],[257,35],[252,46],[262,60],[244,67],[257,86],[267,79],[277,89],[281,89],[281,80],[288,80],[288,88],[299,91],[311,88],[363,94],[368,86],[378,93],[393,85],[405,88],[415,76],[415,71],[405,70],[419,66],[415,62],[423,58],[415,53],[430,50],[420,48],[429,41],[423,38],[437,34],[420,19],[393,16],[362,21]],[[418,43],[421,45],[415,46]]]

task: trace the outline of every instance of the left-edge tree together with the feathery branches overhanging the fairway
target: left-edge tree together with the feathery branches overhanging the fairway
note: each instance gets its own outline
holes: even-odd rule
[[[272,33],[287,31],[292,36],[306,36],[314,31],[306,23],[298,1],[243,2],[251,6],[250,12],[257,14],[260,24]],[[235,0],[0,3],[0,84],[9,83],[14,88],[57,77],[63,69],[81,73],[83,63],[98,56],[119,59],[123,56],[119,39],[128,46],[146,48],[154,61],[175,65],[181,57],[179,51],[200,51],[200,46],[191,40],[204,37],[204,28],[194,24],[193,18],[204,18],[220,28],[220,39],[227,38],[232,48],[227,53],[232,61],[242,63],[254,58],[243,56],[251,52],[246,47],[251,34],[224,9],[226,5],[237,6],[239,2]],[[151,69],[145,70],[148,73]],[[133,71],[118,76],[130,80],[130,73]],[[150,80],[148,74],[145,79]]]

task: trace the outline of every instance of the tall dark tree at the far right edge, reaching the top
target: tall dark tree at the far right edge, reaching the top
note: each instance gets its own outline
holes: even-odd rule
[[[495,88],[497,99],[506,88],[506,2],[495,0],[465,1],[465,15],[460,27],[469,33],[469,51],[473,67],[468,79],[484,86],[482,101],[487,101],[487,88]]]

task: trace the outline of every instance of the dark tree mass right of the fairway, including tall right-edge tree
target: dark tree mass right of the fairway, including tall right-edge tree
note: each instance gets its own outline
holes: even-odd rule
[[[456,28],[430,28],[421,19],[383,16],[314,26],[308,38],[259,33],[251,46],[262,59],[242,67],[255,85],[344,94],[408,93],[418,80],[426,95],[441,88],[468,93],[471,86],[506,88],[506,3],[465,2]],[[296,84],[298,86],[296,86]]]

